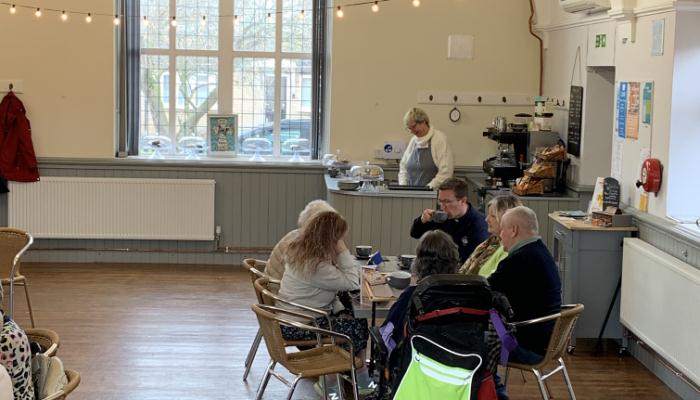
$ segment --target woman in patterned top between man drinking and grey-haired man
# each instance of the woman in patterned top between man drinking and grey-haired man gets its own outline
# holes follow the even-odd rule
[[[481,275],[488,278],[496,270],[498,263],[508,256],[501,244],[501,238],[498,237],[501,232],[501,218],[509,209],[522,205],[520,199],[510,194],[496,196],[489,201],[486,206],[486,224],[491,236],[474,249],[472,255],[459,269],[460,274]]]

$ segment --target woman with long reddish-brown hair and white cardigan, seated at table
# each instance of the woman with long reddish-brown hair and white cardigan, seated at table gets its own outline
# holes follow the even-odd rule
[[[310,219],[289,244],[278,294],[291,302],[331,313],[332,330],[348,335],[355,355],[364,360],[369,338],[367,320],[355,318],[337,296],[339,291],[360,289],[360,268],[355,266],[355,258],[343,241],[347,230],[345,219],[333,211]],[[317,318],[316,322],[321,328],[329,328],[325,318]],[[282,335],[287,340],[316,339],[316,334],[290,326],[282,326]],[[360,392],[372,391],[366,367],[357,371],[357,380]],[[316,389],[322,393],[320,387]],[[337,394],[337,390],[329,387],[329,394]]]

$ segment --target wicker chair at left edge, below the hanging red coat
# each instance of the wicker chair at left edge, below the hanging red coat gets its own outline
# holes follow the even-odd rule
[[[0,228],[0,283],[3,286],[10,286],[8,316],[14,319],[15,285],[21,285],[24,287],[29,318],[32,322],[32,328],[34,328],[34,312],[32,311],[32,301],[29,298],[27,278],[19,271],[19,259],[32,243],[34,243],[34,238],[27,232],[14,228]]]

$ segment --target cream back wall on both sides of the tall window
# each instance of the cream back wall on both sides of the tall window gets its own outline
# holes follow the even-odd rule
[[[38,4],[38,3],[37,3]],[[42,5],[42,4],[38,4]],[[112,13],[110,0],[61,0],[51,7]],[[528,34],[526,1],[409,1],[345,10],[332,21],[330,149],[371,159],[385,140],[409,139],[401,119],[420,90],[536,94],[537,42]],[[115,153],[114,27],[108,17],[87,25],[32,10],[0,12],[0,79],[22,79],[40,157],[112,158]],[[449,34],[475,36],[473,60],[447,60]],[[457,165],[480,165],[495,144],[481,135],[495,115],[531,107],[427,106],[448,135]]]

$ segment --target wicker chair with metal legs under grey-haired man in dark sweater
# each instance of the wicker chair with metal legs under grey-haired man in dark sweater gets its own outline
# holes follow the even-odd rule
[[[518,363],[508,363],[508,369],[506,369],[505,382],[508,382],[508,372],[510,368],[516,368],[522,371],[532,371],[537,378],[537,384],[540,387],[540,393],[544,400],[550,398],[549,390],[546,387],[545,380],[555,373],[561,371],[564,374],[564,381],[566,383],[566,388],[569,391],[569,397],[572,400],[576,400],[576,395],[574,394],[574,388],[571,386],[571,379],[569,378],[569,373],[566,370],[566,365],[564,365],[564,359],[562,358],[564,352],[567,349],[569,339],[571,337],[571,332],[574,329],[574,325],[578,320],[579,315],[583,312],[583,304],[570,304],[563,305],[561,312],[556,314],[547,315],[541,318],[535,318],[528,321],[515,322],[516,328],[520,326],[540,324],[547,321],[556,321],[554,323],[554,329],[552,330],[552,336],[549,339],[549,345],[547,346],[547,352],[544,355],[542,361],[534,365],[518,364]],[[556,360],[559,365],[555,367],[548,373],[544,373],[544,367],[549,364],[550,361]]]

